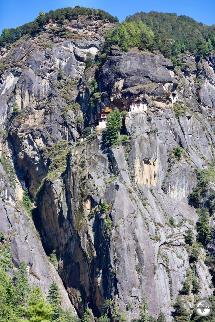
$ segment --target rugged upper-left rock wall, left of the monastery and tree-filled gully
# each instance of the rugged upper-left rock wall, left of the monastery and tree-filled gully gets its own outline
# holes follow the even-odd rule
[[[109,27],[109,23],[101,25],[98,20],[83,18],[68,26],[71,39],[62,42],[60,37],[43,33],[36,39],[20,40],[10,55],[2,55],[5,69],[0,81],[1,127],[7,115],[11,116],[16,101],[20,113],[12,124],[11,118],[6,121],[8,145],[18,179],[28,181],[33,198],[48,170],[45,147],[61,139],[75,141],[81,134],[77,119],[83,117],[82,112],[76,106],[63,114],[64,107],[77,100],[86,54],[95,56],[104,41],[99,32]],[[57,27],[51,24],[47,28],[56,31]]]

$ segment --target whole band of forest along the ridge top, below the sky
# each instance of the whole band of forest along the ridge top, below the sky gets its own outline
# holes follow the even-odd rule
[[[98,19],[113,24],[112,32],[107,32],[107,40],[101,47],[101,53],[105,53],[101,59],[109,54],[110,45],[118,45],[124,52],[132,47],[159,51],[167,58],[177,58],[180,53],[189,51],[196,55],[197,60],[215,50],[215,25],[207,26],[185,15],[141,11],[126,17],[120,24],[117,17],[103,10],[80,6],[57,9],[46,14],[41,11],[33,22],[15,29],[4,29],[0,46],[15,43],[23,36],[35,37],[44,32],[45,25],[50,22],[59,26],[59,35],[62,35],[67,31],[65,24],[79,16],[86,20]],[[176,64],[174,58],[173,64]]]

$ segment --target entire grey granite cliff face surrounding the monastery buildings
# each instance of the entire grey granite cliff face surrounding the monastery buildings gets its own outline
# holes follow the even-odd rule
[[[120,311],[131,303],[130,320],[138,317],[146,293],[149,314],[157,317],[161,309],[171,321],[172,304],[191,270],[201,287],[199,297],[213,293],[205,251],[191,265],[184,234],[188,228],[196,233],[198,215],[188,204],[196,168],[214,158],[214,57],[197,66],[195,57],[184,54],[181,67],[174,68],[159,53],[112,47],[100,67],[84,72],[86,53],[95,56],[111,24],[82,18],[67,28],[75,33],[71,39],[43,33],[1,52],[1,150],[13,161],[16,194],[25,178],[32,200],[37,199],[43,247],[47,254],[56,250],[58,272],[80,316],[87,307],[98,315],[105,298],[111,298]],[[100,95],[92,105],[94,78]],[[96,131],[75,143],[101,108],[121,108],[132,99],[146,99],[148,111],[124,119],[122,134],[129,143],[106,149]],[[20,112],[12,119],[15,101]],[[181,147],[179,159],[171,154],[175,147]],[[66,163],[58,160],[53,166],[59,150]],[[47,175],[49,168],[54,175]],[[33,237],[32,221],[29,226],[15,208],[10,188],[6,196],[0,231],[15,231],[10,237],[14,264],[29,262],[36,275],[44,276],[44,292],[50,279],[57,280],[67,302],[57,272]],[[193,301],[191,295],[190,309]]]

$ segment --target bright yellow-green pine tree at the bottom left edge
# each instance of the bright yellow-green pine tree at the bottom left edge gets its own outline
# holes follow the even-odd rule
[[[54,315],[54,306],[44,298],[41,289],[34,287],[30,293],[27,307],[21,307],[24,319],[19,322],[50,322]]]

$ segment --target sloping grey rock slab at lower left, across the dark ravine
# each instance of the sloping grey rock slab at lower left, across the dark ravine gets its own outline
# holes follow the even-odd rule
[[[63,282],[44,252],[32,218],[18,204],[1,163],[0,231],[11,243],[14,269],[24,260],[29,283],[38,285],[48,295],[48,287],[54,281],[59,287],[63,308],[70,308],[71,302]]]

